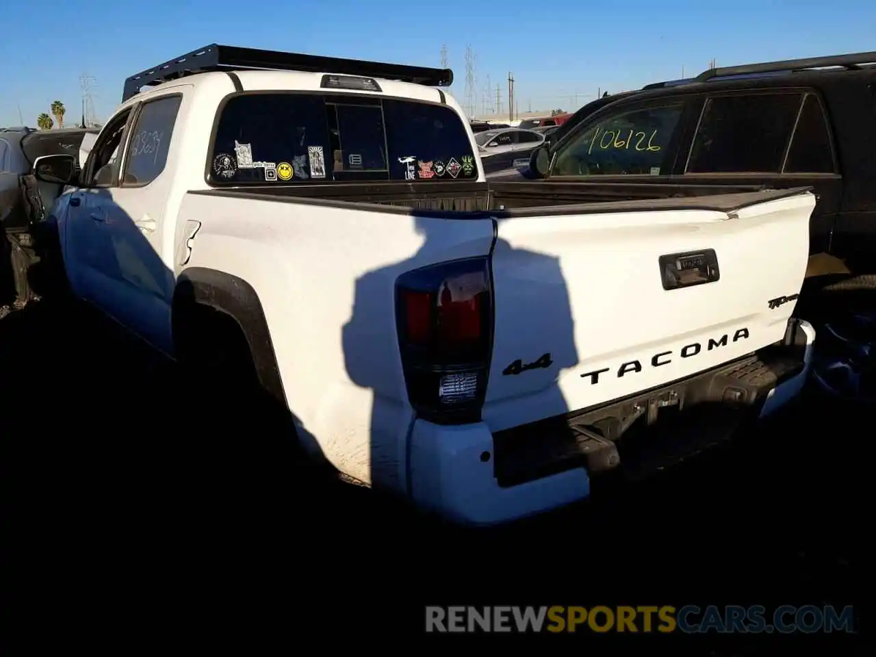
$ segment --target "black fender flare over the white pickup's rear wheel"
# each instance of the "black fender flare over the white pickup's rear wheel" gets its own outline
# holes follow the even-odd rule
[[[187,267],[173,290],[171,320],[178,336],[180,322],[198,306],[214,308],[237,322],[250,347],[258,381],[273,399],[286,406],[286,393],[279,375],[265,311],[255,289],[234,274],[208,267]],[[189,315],[190,316],[190,315]]]

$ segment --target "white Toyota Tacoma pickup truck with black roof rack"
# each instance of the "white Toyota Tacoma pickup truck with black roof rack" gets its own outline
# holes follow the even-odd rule
[[[70,288],[172,357],[246,364],[290,441],[473,524],[587,497],[636,432],[677,451],[697,408],[799,391],[808,190],[488,184],[451,80],[215,45],[133,76],[79,180],[35,166],[76,186],[49,224]]]

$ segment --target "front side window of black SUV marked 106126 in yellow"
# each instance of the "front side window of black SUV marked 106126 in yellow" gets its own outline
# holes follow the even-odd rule
[[[628,109],[599,119],[557,150],[551,175],[668,174],[682,107]]]

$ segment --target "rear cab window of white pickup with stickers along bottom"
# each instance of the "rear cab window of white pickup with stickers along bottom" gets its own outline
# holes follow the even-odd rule
[[[208,162],[210,182],[235,185],[477,175],[469,133],[453,109],[357,95],[233,96]]]

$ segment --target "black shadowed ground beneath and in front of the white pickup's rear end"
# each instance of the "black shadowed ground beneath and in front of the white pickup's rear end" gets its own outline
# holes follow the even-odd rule
[[[351,641],[337,630],[357,622],[419,632],[427,603],[858,602],[862,408],[807,397],[622,494],[474,532],[290,469],[246,409],[78,310],[0,319],[0,392],[27,572],[59,591],[39,604],[100,618],[72,624],[89,641],[234,634],[251,651],[311,617]],[[763,635],[719,639],[695,652],[774,651]]]

